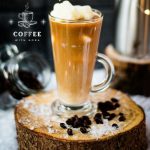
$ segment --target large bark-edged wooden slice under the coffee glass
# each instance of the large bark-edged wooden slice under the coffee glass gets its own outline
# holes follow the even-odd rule
[[[91,116],[92,125],[88,133],[83,134],[80,129],[72,128],[72,136],[67,134],[67,129],[60,127],[60,122],[65,122],[66,118],[51,113],[51,103],[56,99],[55,92],[39,93],[23,99],[15,108],[19,149],[146,150],[143,110],[127,95],[112,89],[95,94],[92,101],[97,106],[99,101],[104,103],[111,98],[119,100],[119,106],[115,110],[108,111],[116,114],[112,120],[105,118],[103,124],[96,124]],[[124,121],[119,121],[120,113],[124,114]],[[117,124],[118,128],[112,124]]]

